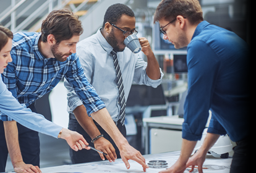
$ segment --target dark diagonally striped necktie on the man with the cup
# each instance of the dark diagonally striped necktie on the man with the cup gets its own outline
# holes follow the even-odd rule
[[[122,74],[117,60],[116,52],[113,50],[111,51],[111,54],[114,61],[114,69],[116,69],[117,87],[119,90],[119,103],[121,104],[120,120],[121,124],[124,125],[124,117],[126,116],[126,99],[124,98],[124,85],[122,83]]]

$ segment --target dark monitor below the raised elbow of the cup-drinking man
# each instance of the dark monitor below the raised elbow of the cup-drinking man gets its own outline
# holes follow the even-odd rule
[[[127,98],[127,107],[166,104],[162,85],[157,88],[133,84]]]

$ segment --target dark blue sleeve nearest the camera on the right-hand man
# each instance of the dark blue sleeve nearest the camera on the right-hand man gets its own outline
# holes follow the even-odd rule
[[[207,43],[193,40],[187,47],[188,93],[184,103],[182,138],[197,141],[207,124],[220,60]]]

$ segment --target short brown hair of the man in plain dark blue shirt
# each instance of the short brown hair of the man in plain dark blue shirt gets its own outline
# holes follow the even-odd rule
[[[198,0],[163,0],[156,8],[154,23],[161,19],[173,20],[177,15],[186,17],[192,25],[203,20]]]

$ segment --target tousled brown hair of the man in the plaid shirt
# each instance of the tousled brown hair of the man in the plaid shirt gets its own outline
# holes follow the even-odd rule
[[[49,34],[54,35],[57,43],[62,40],[69,40],[73,35],[83,33],[82,23],[79,16],[69,9],[52,11],[41,25],[41,39],[47,42]]]

